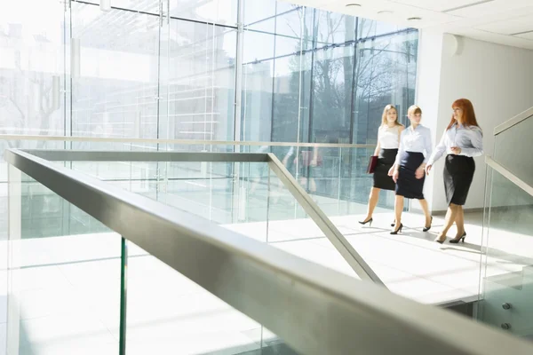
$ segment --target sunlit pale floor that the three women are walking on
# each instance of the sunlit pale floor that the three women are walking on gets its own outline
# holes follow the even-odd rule
[[[339,231],[352,243],[355,250],[377,272],[387,288],[426,304],[442,304],[462,298],[477,296],[480,288],[481,220],[482,214],[467,216],[465,243],[438,244],[434,242],[443,217],[434,217],[432,229],[422,232],[423,217],[405,213],[403,231],[391,235],[390,212],[374,215],[371,226],[360,225],[364,215],[331,217]],[[239,233],[252,236],[259,224],[228,225]],[[450,230],[449,236],[455,234]],[[268,224],[268,241],[277,248],[323,264],[339,272],[354,272],[340,256],[330,241],[310,219],[271,222]],[[533,260],[526,257],[533,248],[527,236],[505,233],[506,250],[494,250],[489,257],[488,275],[520,271]],[[510,245],[514,246],[510,247]],[[531,249],[529,249],[531,250]],[[521,256],[522,254],[522,256]]]

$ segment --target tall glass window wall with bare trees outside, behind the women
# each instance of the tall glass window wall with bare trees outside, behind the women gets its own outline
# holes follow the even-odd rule
[[[403,117],[414,100],[412,28],[275,0],[108,3],[109,9],[98,0],[3,6],[0,134],[374,145],[382,107],[393,103]],[[0,154],[51,147],[44,140],[0,144]],[[55,147],[96,146],[107,149],[81,142]],[[272,152],[308,192],[362,202],[372,150]],[[317,166],[298,164],[310,157]],[[2,182],[5,171],[0,164]],[[388,200],[381,205],[391,206]]]

